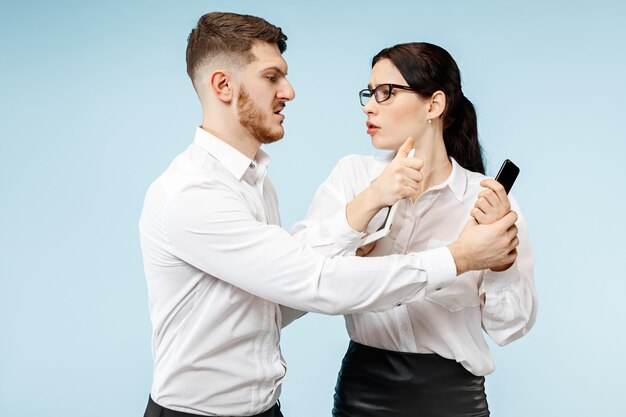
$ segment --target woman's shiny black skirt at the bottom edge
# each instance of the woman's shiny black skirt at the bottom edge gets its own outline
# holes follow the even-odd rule
[[[337,378],[333,416],[489,416],[485,378],[436,354],[350,341]]]

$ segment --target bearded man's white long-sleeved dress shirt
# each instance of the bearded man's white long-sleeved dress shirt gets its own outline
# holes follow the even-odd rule
[[[279,226],[268,164],[263,151],[250,160],[198,129],[148,189],[139,229],[153,325],[151,395],[161,406],[261,413],[285,376],[279,341],[281,326],[298,315],[290,308],[382,311],[421,300],[426,284],[456,282],[445,247],[326,259],[298,242]],[[325,224],[347,228],[345,214]],[[290,308],[281,313],[279,305]]]

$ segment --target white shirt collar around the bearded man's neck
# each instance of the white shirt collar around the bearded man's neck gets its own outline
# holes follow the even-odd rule
[[[271,161],[270,156],[262,149],[257,151],[254,160],[252,160],[201,127],[196,129],[194,143],[224,165],[237,180],[241,180],[247,170],[256,168],[258,164],[267,167]]]

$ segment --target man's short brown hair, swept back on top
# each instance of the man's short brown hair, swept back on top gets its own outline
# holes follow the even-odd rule
[[[281,54],[287,49],[283,31],[260,17],[207,13],[187,38],[187,74],[193,82],[199,66],[221,57],[245,65],[254,59],[255,42],[276,44]]]

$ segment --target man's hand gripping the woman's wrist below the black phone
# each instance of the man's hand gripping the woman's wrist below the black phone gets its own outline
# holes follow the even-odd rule
[[[472,219],[456,242],[448,245],[457,275],[467,271],[510,265],[517,258],[517,213],[510,211],[500,220],[483,225]]]

